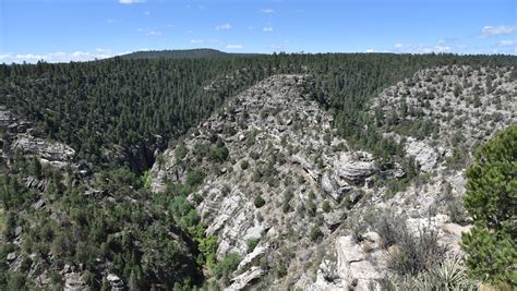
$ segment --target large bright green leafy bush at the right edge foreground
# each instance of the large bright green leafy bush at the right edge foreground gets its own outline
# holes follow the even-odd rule
[[[478,148],[467,169],[465,208],[474,220],[462,237],[473,278],[517,286],[517,124]],[[514,266],[514,267],[509,267]]]

